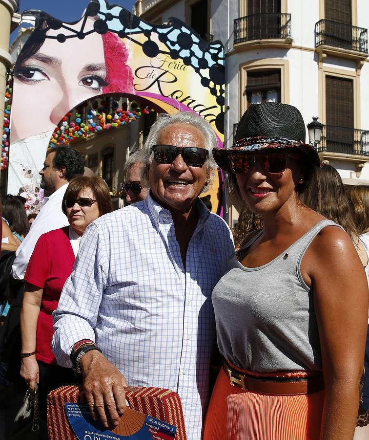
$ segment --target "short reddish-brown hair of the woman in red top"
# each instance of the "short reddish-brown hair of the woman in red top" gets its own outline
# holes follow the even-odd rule
[[[104,179],[100,176],[77,176],[69,182],[68,188],[64,194],[62,211],[65,215],[66,201],[75,200],[86,188],[89,188],[94,193],[95,200],[97,200],[99,206],[100,216],[113,210],[109,188]]]

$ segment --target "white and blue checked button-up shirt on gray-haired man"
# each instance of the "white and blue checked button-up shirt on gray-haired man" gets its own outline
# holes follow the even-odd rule
[[[201,438],[215,337],[211,292],[234,252],[222,220],[197,202],[184,268],[168,210],[149,195],[95,220],[54,312],[53,351],[96,341],[128,385],[160,386],[182,399],[188,440]]]

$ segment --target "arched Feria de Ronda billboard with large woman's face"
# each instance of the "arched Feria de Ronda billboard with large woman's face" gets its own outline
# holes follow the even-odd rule
[[[224,49],[183,22],[156,25],[105,0],[79,22],[41,13],[14,68],[8,192],[39,197],[39,170],[62,117],[103,93],[144,98],[168,113],[192,111],[223,143]]]

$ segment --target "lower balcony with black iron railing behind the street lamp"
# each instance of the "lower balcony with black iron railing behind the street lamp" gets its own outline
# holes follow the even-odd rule
[[[338,153],[350,156],[368,156],[369,130],[324,125],[318,153]]]

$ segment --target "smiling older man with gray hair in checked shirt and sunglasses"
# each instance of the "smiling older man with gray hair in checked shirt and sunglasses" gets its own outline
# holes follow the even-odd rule
[[[188,439],[201,437],[211,292],[234,251],[224,220],[198,198],[215,142],[199,116],[159,118],[141,156],[149,195],[96,220],[82,238],[52,345],[61,365],[81,370],[105,426],[124,412],[124,386],[161,386],[181,396]]]

